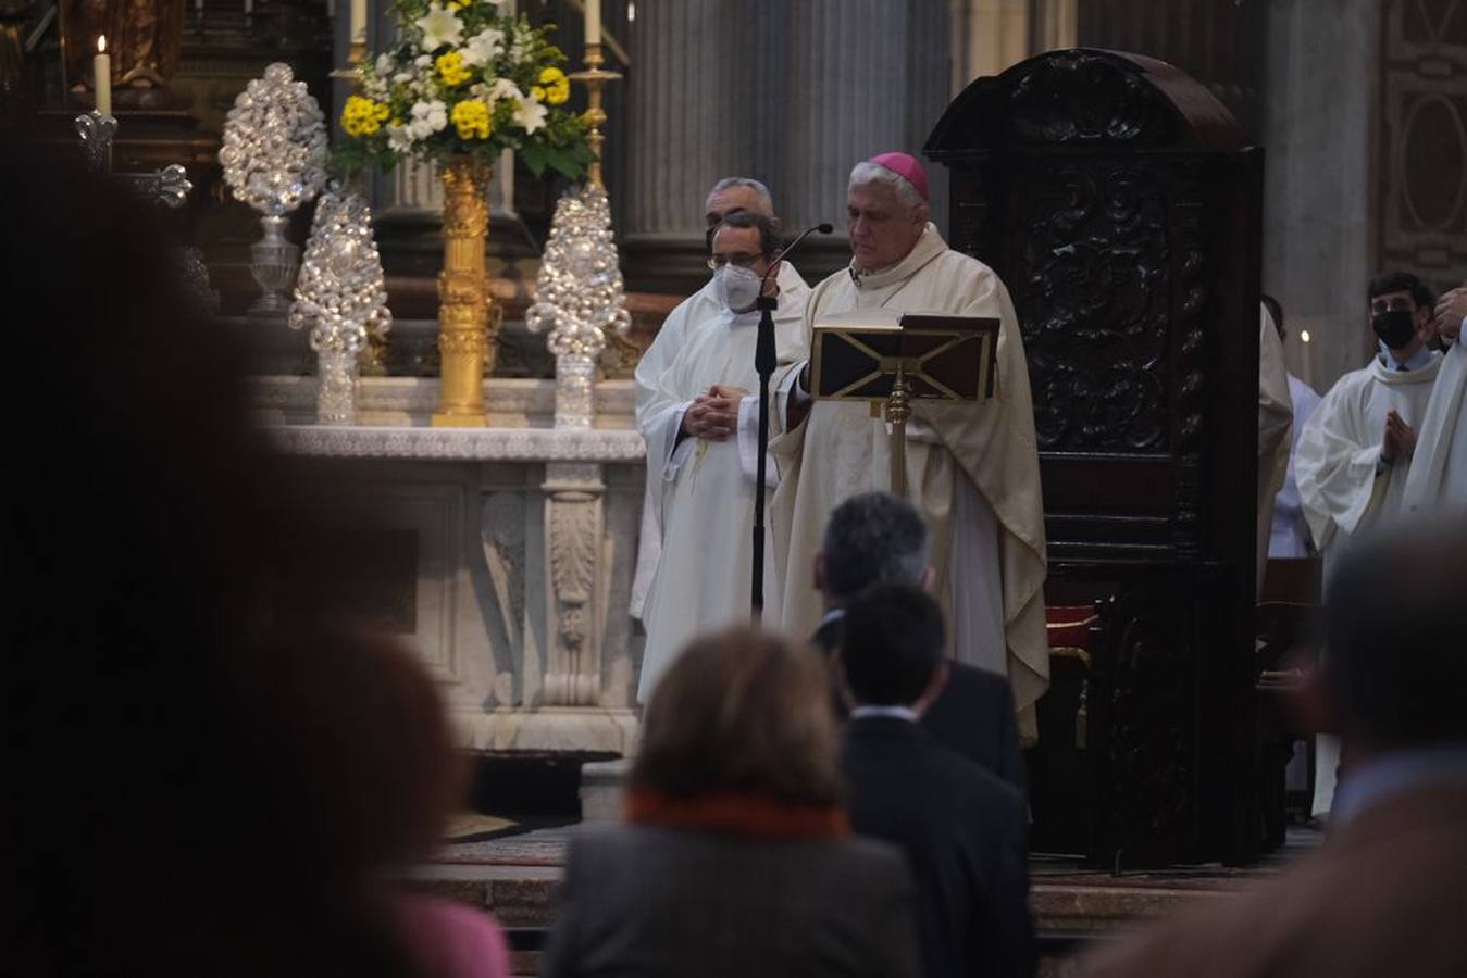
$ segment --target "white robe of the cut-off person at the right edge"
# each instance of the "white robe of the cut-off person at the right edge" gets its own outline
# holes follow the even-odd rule
[[[1416,424],[1416,456],[1401,491],[1407,515],[1441,513],[1467,506],[1467,424],[1463,391],[1467,390],[1467,331],[1442,358],[1432,397]]]

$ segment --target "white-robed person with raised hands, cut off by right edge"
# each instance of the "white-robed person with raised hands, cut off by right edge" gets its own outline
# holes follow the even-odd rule
[[[1423,515],[1467,506],[1467,421],[1463,393],[1467,391],[1467,286],[1452,289],[1436,302],[1433,330],[1442,337],[1446,356],[1422,419],[1416,459],[1405,479],[1401,507]]]

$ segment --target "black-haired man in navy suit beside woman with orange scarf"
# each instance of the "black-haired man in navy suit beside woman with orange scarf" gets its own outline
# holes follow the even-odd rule
[[[1024,801],[918,724],[951,669],[937,603],[879,585],[846,607],[845,625],[836,672],[851,705],[846,814],[857,833],[907,853],[923,974],[1031,975]]]

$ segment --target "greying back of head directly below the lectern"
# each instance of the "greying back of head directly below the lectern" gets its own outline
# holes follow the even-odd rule
[[[877,584],[927,588],[930,553],[927,523],[915,506],[889,493],[863,493],[830,513],[816,553],[814,585],[827,610]]]

